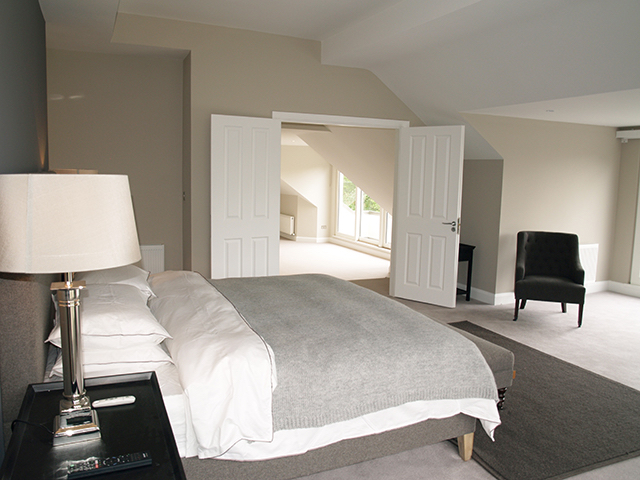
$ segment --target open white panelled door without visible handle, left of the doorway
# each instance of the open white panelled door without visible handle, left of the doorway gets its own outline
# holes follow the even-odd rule
[[[279,272],[280,121],[211,116],[211,277]]]

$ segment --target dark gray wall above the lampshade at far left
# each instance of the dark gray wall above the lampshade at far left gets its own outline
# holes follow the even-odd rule
[[[47,163],[45,22],[37,0],[0,2],[0,173]]]

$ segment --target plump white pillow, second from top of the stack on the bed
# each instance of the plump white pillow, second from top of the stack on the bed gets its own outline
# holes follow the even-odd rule
[[[83,348],[119,349],[171,338],[147,307],[146,294],[136,287],[89,285],[80,298]],[[62,346],[59,325],[47,341]]]

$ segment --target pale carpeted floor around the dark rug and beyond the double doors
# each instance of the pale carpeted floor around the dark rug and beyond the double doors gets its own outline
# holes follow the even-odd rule
[[[281,273],[327,273],[388,293],[389,262],[332,244],[281,244]],[[293,244],[293,245],[290,245]],[[292,248],[289,248],[292,247]],[[368,263],[371,261],[371,264]],[[309,261],[309,262],[308,262]],[[382,275],[381,275],[382,273]],[[455,309],[400,300],[445,323],[467,320],[520,343],[640,390],[640,298],[611,292],[587,295],[584,322],[577,327],[577,307],[529,302],[513,322],[513,305],[486,305],[458,297]],[[517,359],[516,359],[517,370]],[[517,378],[516,378],[517,381]],[[508,401],[508,396],[507,396]],[[578,408],[578,407],[577,407]],[[499,435],[499,429],[496,432]],[[526,434],[526,433],[523,433]],[[570,449],[571,446],[567,445]],[[541,461],[543,461],[541,459]],[[462,462],[449,442],[323,472],[304,480],[490,480],[473,460]],[[640,458],[572,477],[575,480],[640,478]],[[302,480],[302,479],[301,479]]]

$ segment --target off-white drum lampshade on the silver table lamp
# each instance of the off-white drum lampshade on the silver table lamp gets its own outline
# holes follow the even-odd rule
[[[138,260],[126,175],[0,175],[0,271],[82,272]]]

